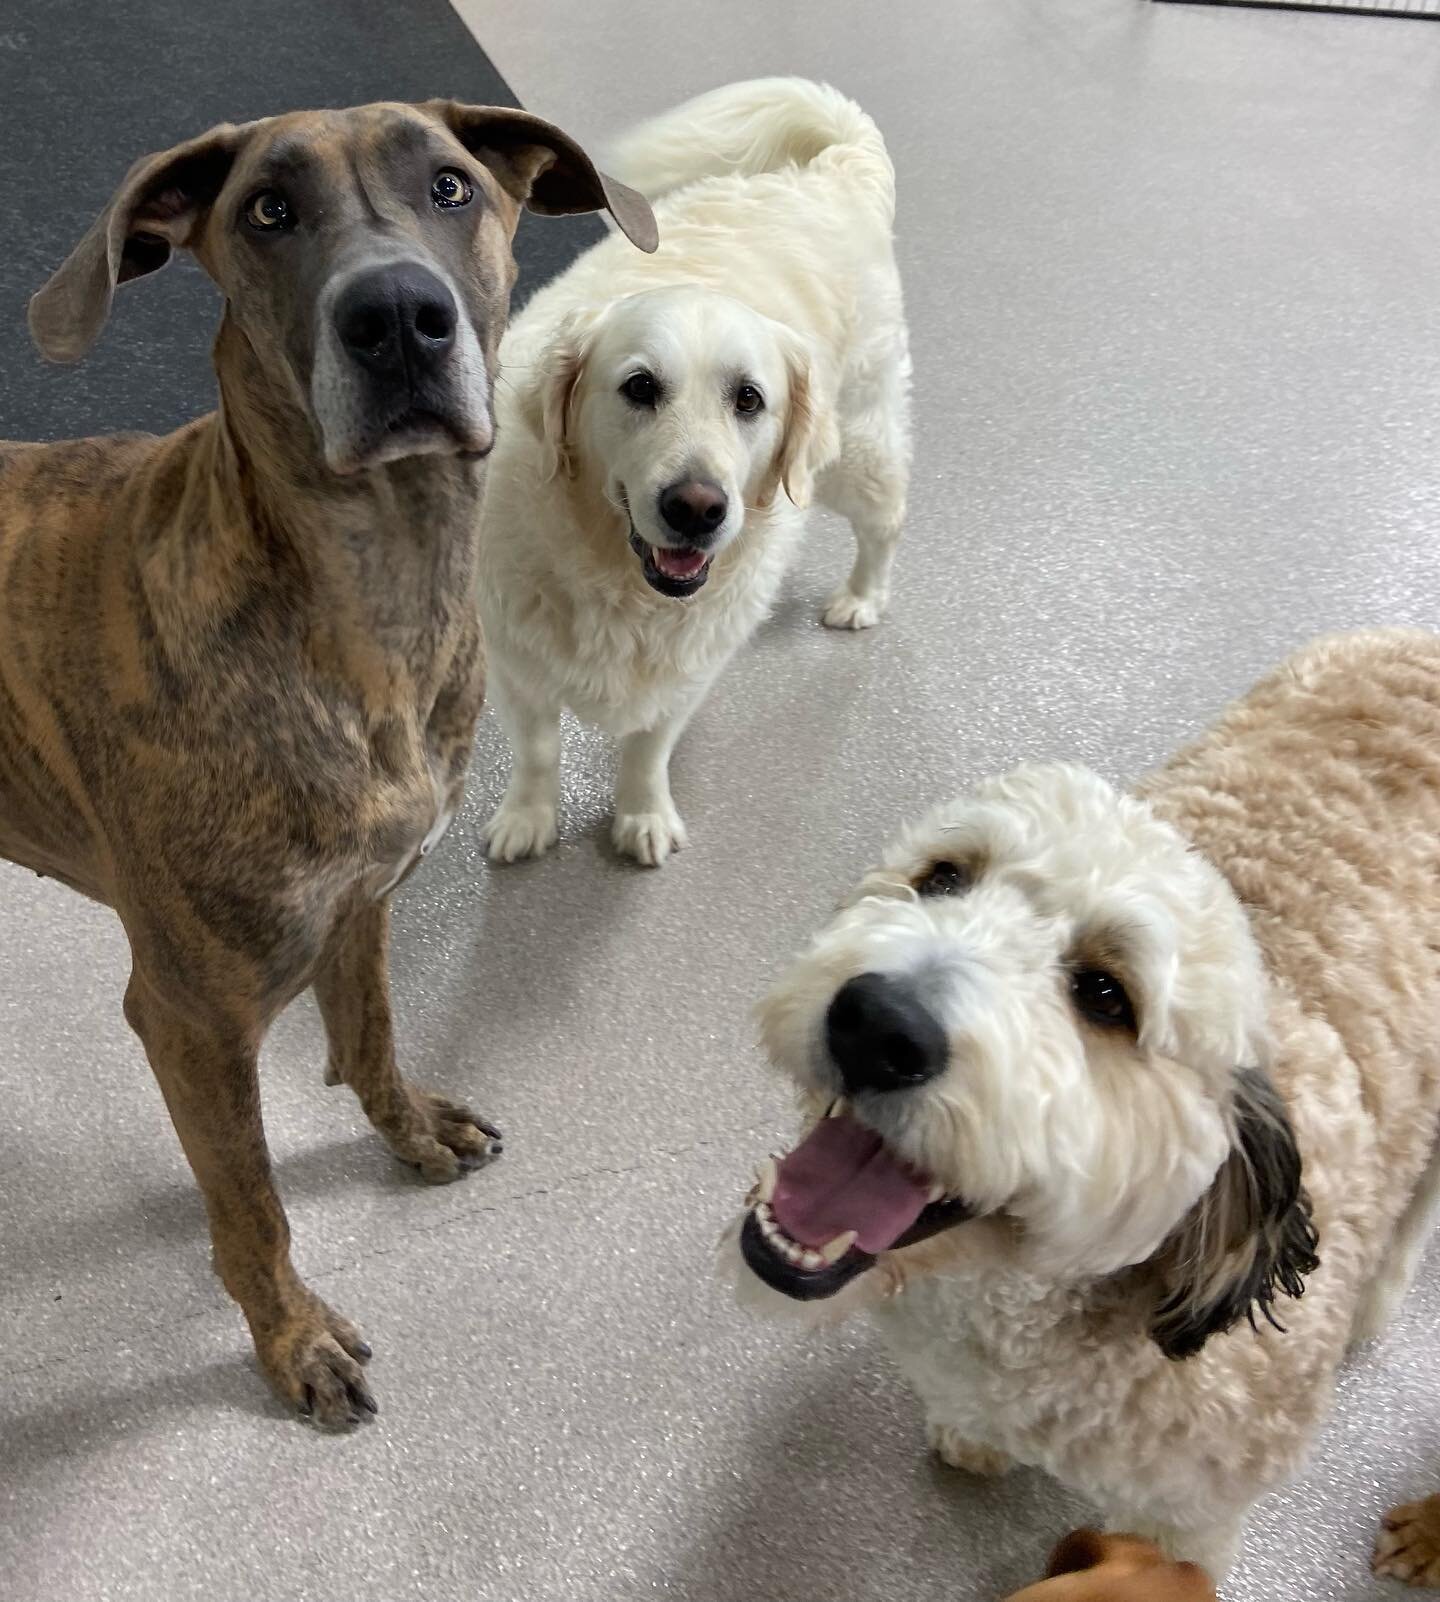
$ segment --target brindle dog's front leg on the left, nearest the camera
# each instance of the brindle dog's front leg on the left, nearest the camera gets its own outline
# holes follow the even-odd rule
[[[375,1400],[360,1368],[370,1347],[306,1290],[290,1261],[259,1117],[259,1027],[202,1020],[136,971],[125,1017],[146,1054],[205,1197],[215,1266],[240,1304],[276,1389],[322,1424],[354,1424]]]

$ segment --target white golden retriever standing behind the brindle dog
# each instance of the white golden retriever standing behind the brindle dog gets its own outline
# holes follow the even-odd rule
[[[646,123],[610,170],[660,250],[604,240],[511,324],[479,594],[511,775],[490,855],[556,839],[559,719],[617,735],[613,839],[657,865],[686,830],[670,755],[775,598],[812,492],[857,557],[825,607],[870,628],[910,461],[894,171],[875,123],[799,78]]]

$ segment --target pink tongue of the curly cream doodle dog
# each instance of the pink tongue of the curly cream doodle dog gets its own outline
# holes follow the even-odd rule
[[[822,1118],[780,1163],[770,1208],[802,1246],[855,1230],[862,1251],[884,1251],[919,1218],[929,1185],[849,1115]]]

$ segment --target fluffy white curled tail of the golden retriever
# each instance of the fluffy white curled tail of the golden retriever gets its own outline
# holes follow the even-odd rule
[[[702,178],[844,167],[887,216],[895,171],[879,128],[828,83],[751,78],[711,90],[623,135],[605,170],[650,200]]]

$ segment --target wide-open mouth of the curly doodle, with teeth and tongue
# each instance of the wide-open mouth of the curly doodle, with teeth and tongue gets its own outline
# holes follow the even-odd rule
[[[746,1206],[745,1262],[796,1301],[833,1296],[881,1251],[974,1216],[964,1198],[895,1157],[841,1102],[793,1152],[766,1161]]]

